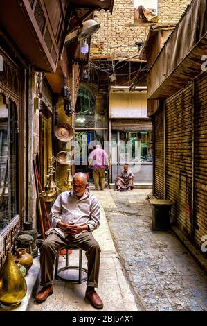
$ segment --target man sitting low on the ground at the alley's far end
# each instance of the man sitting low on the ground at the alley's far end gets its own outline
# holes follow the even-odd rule
[[[116,190],[128,190],[131,191],[134,188],[133,185],[134,174],[129,170],[128,164],[125,164],[123,171],[116,178]]]

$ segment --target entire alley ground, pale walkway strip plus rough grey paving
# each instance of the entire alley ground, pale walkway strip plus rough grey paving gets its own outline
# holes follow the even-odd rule
[[[91,189],[102,207],[94,232],[102,250],[102,311],[207,311],[207,277],[172,231],[152,230],[149,193]],[[54,294],[43,304],[32,298],[28,311],[95,311],[83,300],[84,290],[84,283],[55,280]]]

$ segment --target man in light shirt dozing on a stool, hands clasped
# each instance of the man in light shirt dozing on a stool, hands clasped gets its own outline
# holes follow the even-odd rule
[[[98,287],[100,247],[94,239],[93,230],[100,225],[100,205],[95,196],[87,191],[87,176],[78,172],[73,176],[73,189],[60,194],[51,208],[53,230],[40,251],[42,289],[36,294],[38,303],[53,294],[53,270],[57,252],[67,245],[75,245],[86,252],[88,261],[87,290],[85,298],[96,309],[103,303],[95,289]]]

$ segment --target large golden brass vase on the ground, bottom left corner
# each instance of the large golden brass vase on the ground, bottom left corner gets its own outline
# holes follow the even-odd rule
[[[0,302],[5,306],[16,306],[25,297],[26,281],[19,267],[7,252],[6,261],[0,271]]]

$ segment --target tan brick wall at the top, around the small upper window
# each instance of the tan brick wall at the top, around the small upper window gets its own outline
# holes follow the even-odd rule
[[[190,2],[191,0],[159,0],[159,23],[178,22]],[[126,58],[138,54],[137,46],[132,44],[145,40],[149,26],[125,26],[134,23],[133,3],[133,0],[114,0],[112,15],[104,10],[96,12],[94,19],[100,24],[100,29],[92,37],[91,55],[111,56],[112,53],[114,58]]]

